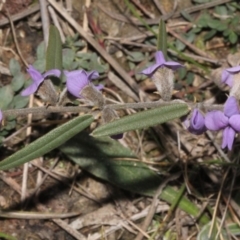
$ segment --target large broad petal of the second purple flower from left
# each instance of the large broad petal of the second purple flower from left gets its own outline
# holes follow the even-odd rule
[[[84,70],[64,71],[67,78],[67,89],[75,97],[81,98],[80,92],[89,84],[87,73]]]

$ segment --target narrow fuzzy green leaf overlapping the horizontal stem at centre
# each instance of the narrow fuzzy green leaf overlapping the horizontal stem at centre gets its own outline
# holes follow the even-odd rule
[[[102,125],[93,131],[92,134],[95,137],[101,137],[124,133],[130,130],[147,128],[182,117],[188,112],[188,106],[182,103],[157,107]]]

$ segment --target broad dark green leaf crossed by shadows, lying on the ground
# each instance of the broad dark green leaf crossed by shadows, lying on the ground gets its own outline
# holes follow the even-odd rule
[[[136,156],[119,142],[109,137],[93,138],[84,132],[64,143],[60,150],[82,169],[120,188],[145,196],[154,196],[156,189],[165,179],[146,164],[137,161]],[[173,204],[178,191],[165,187],[160,198]],[[185,197],[178,207],[192,216],[198,216],[199,209]],[[203,215],[202,224],[209,221]]]

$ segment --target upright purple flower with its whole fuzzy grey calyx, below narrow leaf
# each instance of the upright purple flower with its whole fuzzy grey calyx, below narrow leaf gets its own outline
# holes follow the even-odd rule
[[[162,99],[169,101],[173,94],[173,70],[182,67],[182,65],[178,62],[166,61],[162,51],[155,53],[155,61],[155,64],[141,73],[151,77]]]

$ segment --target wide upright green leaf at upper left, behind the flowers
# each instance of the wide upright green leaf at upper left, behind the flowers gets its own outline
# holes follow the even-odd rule
[[[62,70],[62,42],[55,26],[50,26],[46,53],[46,71],[51,69]]]

